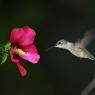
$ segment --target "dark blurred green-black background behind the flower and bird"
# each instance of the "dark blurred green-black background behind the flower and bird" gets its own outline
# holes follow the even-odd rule
[[[35,44],[41,59],[27,61],[22,78],[10,58],[0,65],[1,95],[80,95],[92,80],[95,62],[66,50],[45,50],[60,39],[75,42],[95,25],[94,0],[0,0],[0,43],[9,41],[11,29],[29,25],[37,31]],[[95,40],[87,49],[95,55]],[[89,93],[95,95],[95,92]]]

